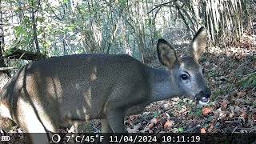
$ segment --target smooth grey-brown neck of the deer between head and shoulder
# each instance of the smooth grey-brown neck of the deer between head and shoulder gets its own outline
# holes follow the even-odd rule
[[[174,74],[170,70],[150,68],[150,102],[161,101],[182,95],[178,90]]]

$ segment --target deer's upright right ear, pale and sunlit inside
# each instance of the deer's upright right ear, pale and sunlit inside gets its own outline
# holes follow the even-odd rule
[[[202,53],[206,50],[206,29],[201,27],[192,40],[191,54],[198,61]]]

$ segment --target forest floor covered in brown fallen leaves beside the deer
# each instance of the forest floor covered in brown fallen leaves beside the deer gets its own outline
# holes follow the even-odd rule
[[[224,46],[223,46],[224,47]],[[211,47],[202,56],[202,66],[212,96],[207,106],[190,98],[154,102],[142,114],[126,117],[130,133],[255,133],[256,46]],[[159,65],[159,62],[152,65]],[[100,132],[94,120],[78,126],[80,132]],[[20,131],[14,127],[10,132]],[[70,130],[72,132],[72,130]]]

